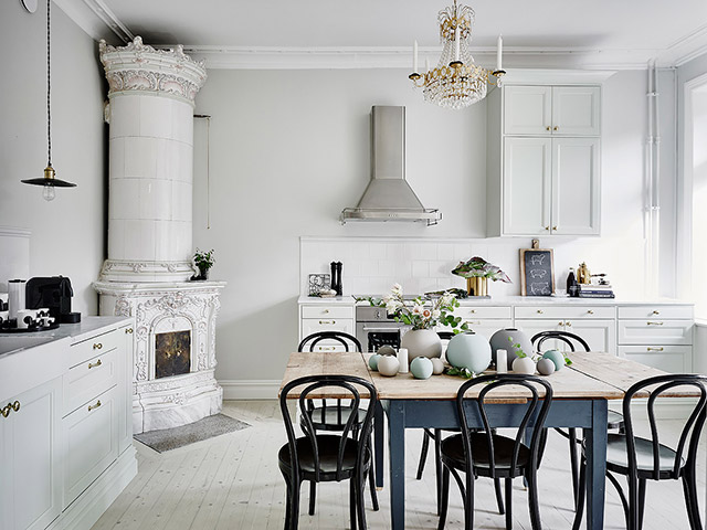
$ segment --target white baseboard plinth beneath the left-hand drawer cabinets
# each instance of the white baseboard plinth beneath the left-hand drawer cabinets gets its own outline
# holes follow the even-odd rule
[[[48,530],[89,530],[137,475],[133,444],[54,519]]]

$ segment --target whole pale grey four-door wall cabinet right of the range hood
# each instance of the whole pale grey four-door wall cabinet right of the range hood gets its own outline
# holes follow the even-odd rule
[[[601,85],[508,83],[487,99],[487,235],[599,235]]]

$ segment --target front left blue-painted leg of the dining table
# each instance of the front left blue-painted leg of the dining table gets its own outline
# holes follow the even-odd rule
[[[390,459],[390,524],[392,530],[405,528],[405,407],[391,401],[388,410]]]

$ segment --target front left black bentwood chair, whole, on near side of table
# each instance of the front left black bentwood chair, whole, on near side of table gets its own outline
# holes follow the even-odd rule
[[[299,394],[302,430],[304,436],[297,437],[287,406],[287,395],[296,386],[307,385]],[[350,399],[354,406],[360,404],[357,388],[368,393],[369,407],[363,422],[357,425],[357,416],[349,415],[340,435],[317,434],[312,416],[307,411],[308,395],[320,389],[336,389],[337,393]],[[363,506],[365,477],[371,468],[370,449],[373,409],[378,395],[376,388],[368,381],[350,375],[310,375],[287,383],[279,394],[279,407],[287,432],[287,444],[277,454],[279,470],[287,484],[287,507],[285,510],[285,530],[296,530],[299,522],[299,490],[303,480],[312,484],[350,480],[351,530],[366,530],[366,508]]]

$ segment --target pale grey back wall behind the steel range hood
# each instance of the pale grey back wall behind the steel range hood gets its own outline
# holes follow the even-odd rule
[[[644,289],[645,92],[645,72],[619,73],[604,86],[602,237],[541,241],[556,250],[559,278],[587,261],[611,274],[622,297]],[[369,180],[372,105],[407,107],[408,180],[425,206],[443,212],[439,226],[338,223]],[[402,71],[211,70],[197,113],[212,120],[209,183],[205,123],[194,130],[194,245],[215,248],[213,277],[229,282],[217,332],[220,380],[282,377],[297,340],[302,235],[465,240],[507,256],[498,265],[511,275],[511,256],[530,245],[483,239],[485,103],[437,108]],[[318,271],[302,271],[310,272]]]

